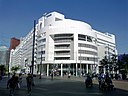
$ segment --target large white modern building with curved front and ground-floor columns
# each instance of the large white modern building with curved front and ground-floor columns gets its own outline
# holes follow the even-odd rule
[[[41,17],[35,33],[34,73],[47,76],[53,71],[60,76],[98,73],[99,60],[117,54],[113,34],[96,31],[85,22],[66,19],[57,12]],[[31,70],[32,41],[33,29],[11,54],[14,57],[11,63],[25,71]]]

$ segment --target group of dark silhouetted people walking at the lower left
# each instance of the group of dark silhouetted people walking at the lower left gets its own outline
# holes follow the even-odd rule
[[[28,74],[28,76],[26,77],[28,95],[31,92],[32,81],[33,81],[32,75]],[[22,84],[22,74],[19,74],[19,76],[16,76],[16,74],[14,73],[7,82],[7,88],[10,91],[9,96],[14,96],[15,89],[17,88],[19,89],[21,87],[21,84]]]

